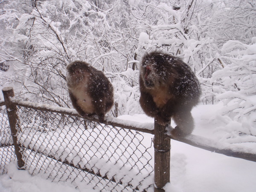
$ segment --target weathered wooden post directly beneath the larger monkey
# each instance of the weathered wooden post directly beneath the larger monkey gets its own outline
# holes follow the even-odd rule
[[[154,121],[154,192],[164,192],[170,182],[171,139],[166,136],[166,126]]]

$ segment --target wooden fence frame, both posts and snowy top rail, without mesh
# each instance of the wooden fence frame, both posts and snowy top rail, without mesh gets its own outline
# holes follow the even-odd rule
[[[14,97],[12,87],[6,87],[2,89],[4,95],[4,101],[0,104],[6,105],[9,123],[12,131],[12,137],[15,146],[15,153],[18,160],[18,166],[23,168],[24,162],[20,154],[20,146],[17,144],[17,130],[15,125],[19,126],[19,119],[16,113],[16,106],[23,106],[30,109],[36,109],[40,111],[55,112],[65,115],[71,115],[80,117],[76,110],[68,109],[64,107],[55,107],[47,104],[31,103],[27,101],[17,100]],[[86,120],[95,121],[99,123],[96,118],[83,117]],[[154,191],[164,192],[163,186],[170,182],[170,140],[173,139],[171,135],[166,132],[165,126],[160,126],[157,123],[135,123],[128,120],[120,120],[115,117],[107,116],[103,122],[106,125],[120,127],[123,129],[130,129],[139,132],[150,133],[154,135]],[[256,162],[256,152],[253,149],[245,147],[235,146],[227,143],[219,143],[218,141],[209,140],[208,138],[202,138],[196,135],[189,135],[185,138],[175,138],[183,143],[205,149],[211,152],[220,153],[223,155],[242,158]]]

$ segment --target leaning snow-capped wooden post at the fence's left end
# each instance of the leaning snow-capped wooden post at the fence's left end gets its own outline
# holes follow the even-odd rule
[[[19,169],[23,169],[23,166],[25,165],[22,155],[20,152],[20,146],[17,143],[17,128],[20,127],[19,119],[17,115],[17,107],[10,101],[10,97],[14,97],[14,91],[12,87],[5,87],[2,89],[4,101],[6,103],[6,111],[9,119],[9,124],[12,132],[12,140],[15,148],[15,154],[17,157],[17,163]]]

